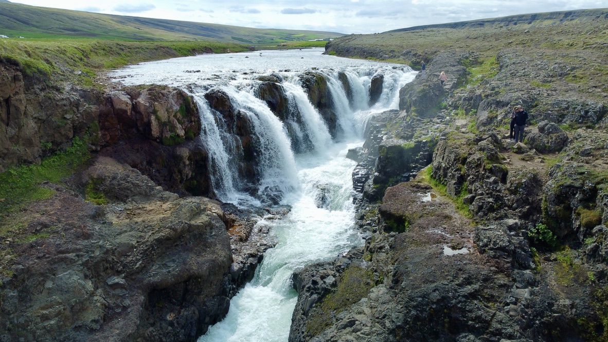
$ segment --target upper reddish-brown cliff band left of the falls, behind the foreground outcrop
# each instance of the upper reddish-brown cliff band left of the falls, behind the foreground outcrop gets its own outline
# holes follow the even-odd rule
[[[209,176],[195,172],[206,169],[207,152],[195,140],[201,130],[198,109],[182,91],[152,86],[108,94],[62,92],[2,64],[0,99],[0,131],[6,133],[0,134],[0,171],[40,163],[74,137],[89,135],[92,148],[113,147],[121,162],[167,190],[214,196]],[[192,146],[165,148],[184,142]]]

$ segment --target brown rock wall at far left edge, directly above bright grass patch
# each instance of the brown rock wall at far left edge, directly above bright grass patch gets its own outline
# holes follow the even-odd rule
[[[88,94],[95,98],[98,94]],[[21,163],[40,163],[97,120],[97,108],[71,92],[24,78],[18,67],[0,63],[0,172]]]

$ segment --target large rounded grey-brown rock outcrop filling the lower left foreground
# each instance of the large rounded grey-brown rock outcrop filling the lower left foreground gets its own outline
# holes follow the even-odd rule
[[[110,199],[129,203],[98,207],[57,187],[28,209],[39,218],[26,229],[49,237],[15,251],[3,338],[196,340],[229,306],[232,254],[219,203],[179,199],[107,158],[86,173]]]

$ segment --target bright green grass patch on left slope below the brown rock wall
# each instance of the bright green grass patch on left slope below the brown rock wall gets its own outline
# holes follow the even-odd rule
[[[74,138],[71,148],[44,159],[40,165],[16,166],[0,174],[0,221],[27,203],[49,199],[55,191],[42,183],[60,183],[89,157],[86,142]]]

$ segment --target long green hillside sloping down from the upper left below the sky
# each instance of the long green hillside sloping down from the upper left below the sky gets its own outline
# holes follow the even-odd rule
[[[0,35],[25,38],[212,40],[264,44],[344,36],[336,32],[252,29],[201,22],[105,15],[13,4],[0,0]]]

